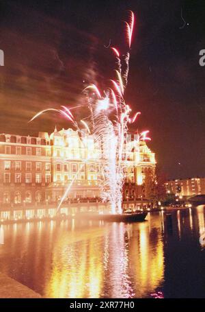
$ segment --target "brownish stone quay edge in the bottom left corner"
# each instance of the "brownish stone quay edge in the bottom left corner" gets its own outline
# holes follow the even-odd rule
[[[0,273],[0,298],[42,298],[39,293]]]

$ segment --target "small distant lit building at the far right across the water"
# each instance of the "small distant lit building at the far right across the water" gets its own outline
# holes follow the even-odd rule
[[[167,193],[179,196],[195,196],[205,194],[205,178],[188,178],[169,180],[165,183]]]

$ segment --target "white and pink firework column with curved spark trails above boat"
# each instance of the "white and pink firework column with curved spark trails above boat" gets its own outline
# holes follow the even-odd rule
[[[129,23],[126,22],[128,52],[126,53],[124,58],[126,66],[123,72],[120,62],[120,52],[114,47],[111,47],[118,60],[118,69],[115,70],[117,73],[118,82],[116,82],[115,80],[110,80],[114,86],[115,92],[112,88],[108,88],[107,91],[103,91],[103,93],[100,93],[98,87],[95,84],[90,84],[83,90],[83,92],[86,91],[88,99],[87,107],[90,110],[90,119],[93,128],[92,131],[90,131],[90,128],[88,127],[87,123],[83,121],[83,119],[81,119],[81,123],[85,125],[88,135],[92,135],[94,144],[98,144],[98,146],[100,146],[101,148],[102,159],[104,161],[102,165],[103,181],[101,181],[101,197],[104,202],[108,201],[110,203],[112,213],[122,213],[122,187],[124,183],[124,167],[126,164],[126,161],[124,161],[126,160],[125,142],[128,132],[128,122],[131,122],[131,119],[129,118],[131,108],[126,105],[126,102],[124,100],[124,91],[128,82],[129,58],[134,22],[135,17],[133,12],[131,12],[131,21]],[[89,92],[94,92],[96,94],[96,97],[92,97],[92,101],[90,101]],[[102,96],[102,94],[104,95]],[[115,116],[117,118],[113,119],[109,117],[109,113],[111,112],[111,106],[115,107]],[[38,114],[36,114],[31,119],[31,121],[36,117],[40,116],[43,112],[46,112],[48,110],[54,110],[55,112],[60,112],[61,115],[64,115],[64,117],[71,121],[74,127],[77,128],[77,131],[81,132],[78,127],[77,121],[75,121],[72,113],[70,112],[72,108],[66,108],[66,106],[61,107],[64,108],[64,110],[57,110],[54,108],[42,110],[41,112],[38,112]],[[139,112],[135,114],[132,119],[133,122],[139,114]],[[148,131],[141,133],[140,137],[142,141],[150,139],[146,136],[147,133]],[[87,163],[87,160],[84,161],[83,165]],[[79,170],[68,185],[66,192],[61,197],[61,201],[57,206],[57,211],[59,210],[62,202],[64,202],[64,200],[68,196],[72,184],[74,183],[74,180],[76,180],[80,170],[81,166],[79,166]]]

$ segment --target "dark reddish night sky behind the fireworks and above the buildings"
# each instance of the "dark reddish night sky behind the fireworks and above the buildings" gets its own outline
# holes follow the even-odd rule
[[[205,176],[205,67],[199,64],[205,1],[1,0],[0,6],[1,133],[68,128],[53,113],[27,121],[44,108],[82,104],[87,84],[109,84],[115,59],[104,45],[111,39],[126,51],[123,21],[133,10],[126,102],[141,111],[136,129],[150,130],[149,146],[169,178]],[[189,25],[182,27],[182,18]]]

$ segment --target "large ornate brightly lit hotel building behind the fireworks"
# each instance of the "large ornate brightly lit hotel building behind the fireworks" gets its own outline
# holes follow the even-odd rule
[[[143,184],[155,156],[139,136],[125,145],[124,196]],[[66,200],[100,197],[103,159],[92,135],[72,129],[38,137],[0,134],[0,204],[18,206],[57,202],[74,177]]]

